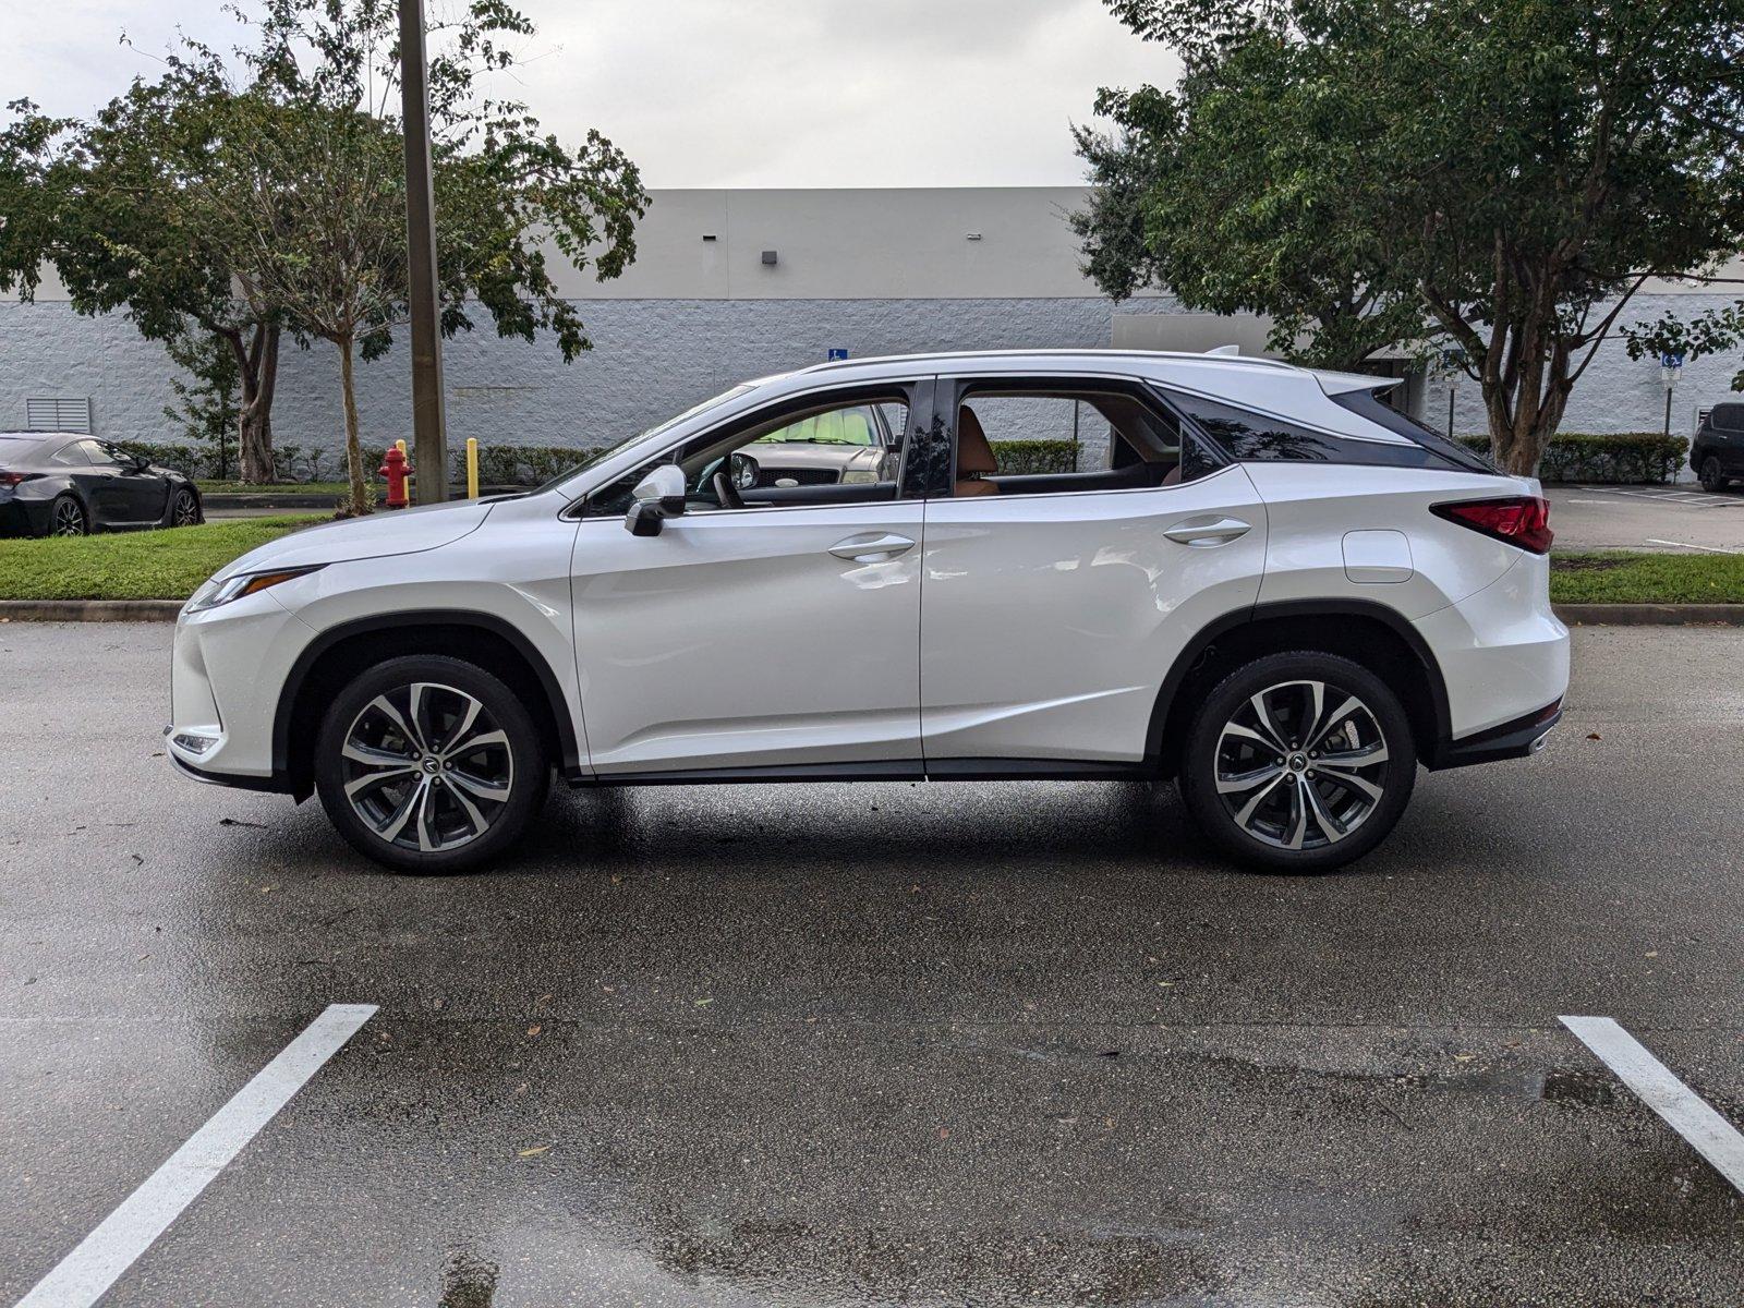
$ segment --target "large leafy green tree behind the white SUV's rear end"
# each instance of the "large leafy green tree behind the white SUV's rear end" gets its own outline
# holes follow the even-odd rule
[[[1125,228],[1085,215],[1092,270],[1273,312],[1320,358],[1444,337],[1507,471],[1536,471],[1646,277],[1744,239],[1744,0],[1109,5],[1186,72],[1104,92],[1092,178],[1114,152],[1144,183]]]

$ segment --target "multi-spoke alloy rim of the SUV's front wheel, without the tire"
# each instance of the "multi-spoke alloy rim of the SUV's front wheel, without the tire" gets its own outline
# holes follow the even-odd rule
[[[476,841],[514,790],[508,732],[481,699],[436,682],[375,696],[340,748],[345,799],[382,841],[441,853]]]

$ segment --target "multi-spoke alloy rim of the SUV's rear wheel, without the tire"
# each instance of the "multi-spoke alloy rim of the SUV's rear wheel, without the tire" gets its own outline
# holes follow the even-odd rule
[[[1263,844],[1324,849],[1373,816],[1386,764],[1386,736],[1362,699],[1332,682],[1278,682],[1224,722],[1217,797]]]

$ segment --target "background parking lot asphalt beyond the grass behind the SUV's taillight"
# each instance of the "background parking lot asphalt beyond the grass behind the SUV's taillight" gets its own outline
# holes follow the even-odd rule
[[[1556,549],[1744,553],[1744,490],[1549,487]]]

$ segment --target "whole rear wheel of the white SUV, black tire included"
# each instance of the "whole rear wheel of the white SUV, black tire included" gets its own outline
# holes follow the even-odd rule
[[[1313,685],[1322,687],[1317,732],[1308,727]],[[1264,724],[1256,696],[1266,696]],[[1346,701],[1362,712],[1346,712]],[[1261,741],[1268,727],[1287,748]],[[1341,746],[1331,752],[1341,759],[1336,769],[1318,748],[1325,739]],[[1416,743],[1399,698],[1367,668],[1313,651],[1268,654],[1205,698],[1177,783],[1195,821],[1236,863],[1331,872],[1374,849],[1399,821],[1416,783]]]

